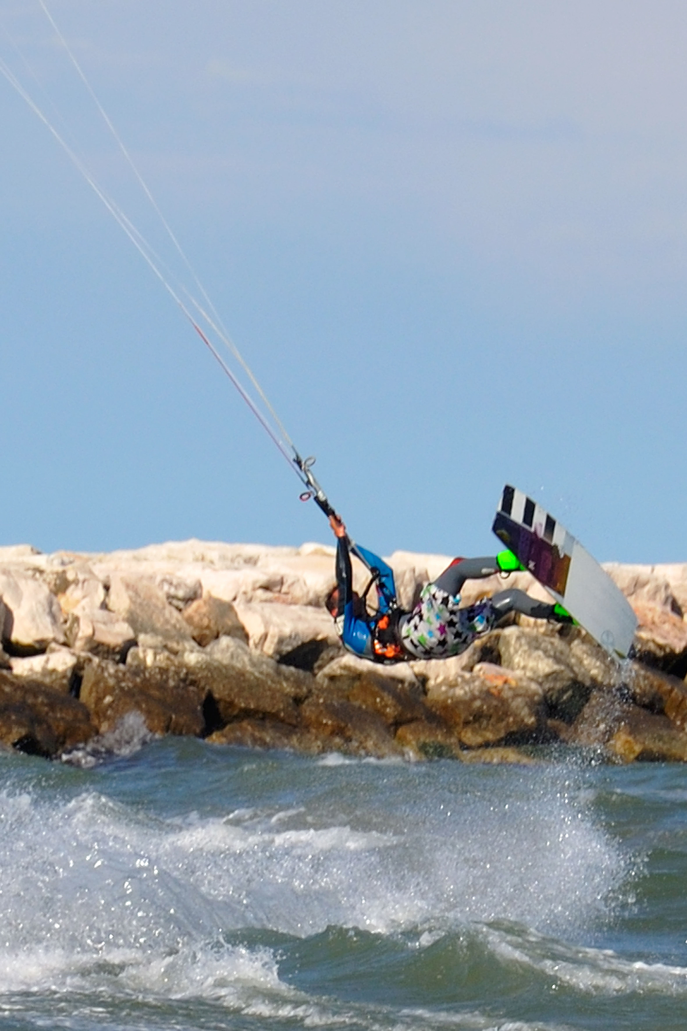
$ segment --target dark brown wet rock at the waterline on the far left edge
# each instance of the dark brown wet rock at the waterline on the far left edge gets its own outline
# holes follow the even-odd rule
[[[54,758],[95,734],[81,702],[54,688],[0,671],[0,741],[19,752]]]

